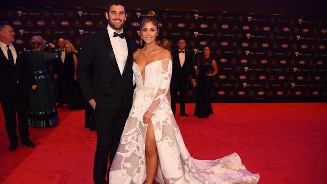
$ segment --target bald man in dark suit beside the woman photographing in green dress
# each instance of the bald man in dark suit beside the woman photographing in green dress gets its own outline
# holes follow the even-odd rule
[[[71,58],[66,56],[65,40],[63,38],[58,40],[58,47],[61,50],[61,54],[59,54],[60,57],[58,57],[53,64],[53,73],[54,79],[56,79],[56,88],[58,92],[59,104],[57,108],[60,108],[63,106],[63,103],[67,101],[67,92],[74,77],[74,63]]]

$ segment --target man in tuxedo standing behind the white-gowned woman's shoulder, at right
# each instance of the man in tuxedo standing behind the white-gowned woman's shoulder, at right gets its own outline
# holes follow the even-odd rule
[[[196,83],[193,58],[189,52],[185,51],[185,39],[180,38],[177,42],[178,51],[173,52],[173,72],[171,79],[171,101],[172,111],[176,113],[176,101],[178,91],[180,92],[180,115],[188,117],[185,113],[185,97],[189,72],[192,74],[192,84]]]

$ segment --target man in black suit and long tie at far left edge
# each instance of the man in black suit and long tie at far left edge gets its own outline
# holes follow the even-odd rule
[[[24,49],[13,44],[14,41],[13,28],[8,23],[0,23],[0,101],[10,140],[9,151],[15,151],[18,146],[16,113],[22,144],[35,146],[29,139],[27,109],[30,87],[36,89],[37,85]]]

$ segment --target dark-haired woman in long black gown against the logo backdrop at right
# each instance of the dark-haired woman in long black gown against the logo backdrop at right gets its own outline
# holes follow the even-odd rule
[[[207,118],[212,114],[211,89],[213,86],[213,76],[218,72],[217,62],[210,56],[211,50],[204,47],[204,57],[199,59],[196,69],[197,97],[194,109],[194,116]]]

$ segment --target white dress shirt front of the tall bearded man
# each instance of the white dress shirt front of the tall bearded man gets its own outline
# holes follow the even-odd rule
[[[116,61],[119,67],[120,74],[123,74],[125,63],[128,55],[127,42],[125,38],[120,38],[119,36],[113,37],[114,30],[108,25],[107,27],[111,46],[114,50]],[[123,30],[120,32],[122,33]]]

